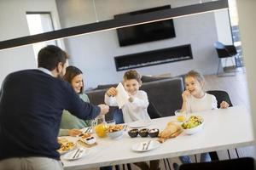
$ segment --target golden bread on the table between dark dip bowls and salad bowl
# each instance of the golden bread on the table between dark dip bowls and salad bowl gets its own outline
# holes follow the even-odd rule
[[[166,128],[158,135],[160,138],[158,140],[163,143],[166,139],[175,138],[180,133],[182,133],[182,127],[177,122],[168,122]]]

